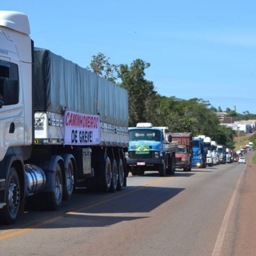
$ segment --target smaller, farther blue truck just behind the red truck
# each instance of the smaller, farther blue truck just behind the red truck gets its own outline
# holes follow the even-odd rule
[[[207,165],[207,149],[204,144],[204,139],[201,137],[194,137],[192,140],[192,166],[199,168],[206,168]]]

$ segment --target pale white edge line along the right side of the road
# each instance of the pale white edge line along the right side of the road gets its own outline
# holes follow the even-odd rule
[[[212,251],[212,254],[211,254],[212,256],[220,256],[221,248],[222,248],[224,238],[225,238],[225,233],[226,233],[226,230],[227,230],[227,224],[228,224],[228,221],[229,221],[229,218],[230,218],[230,215],[231,215],[231,210],[232,210],[233,205],[234,205],[234,200],[237,197],[238,189],[239,189],[239,186],[240,186],[240,183],[241,183],[241,180],[242,180],[242,176],[244,175],[244,173],[245,173],[245,168],[243,169],[243,172],[241,173],[241,175],[239,177],[237,185],[234,188],[234,191],[233,191],[233,194],[231,196],[229,205],[227,207],[224,219],[223,219],[222,224],[221,224],[221,228],[220,228],[220,231],[219,231],[219,234],[218,234],[215,246],[214,246],[214,250]]]

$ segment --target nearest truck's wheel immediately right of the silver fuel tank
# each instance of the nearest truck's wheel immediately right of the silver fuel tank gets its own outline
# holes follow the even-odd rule
[[[46,207],[49,210],[58,210],[61,206],[63,194],[63,183],[62,183],[62,173],[60,164],[57,163],[55,169],[55,187],[54,191],[50,193],[42,193],[42,201],[45,202]]]

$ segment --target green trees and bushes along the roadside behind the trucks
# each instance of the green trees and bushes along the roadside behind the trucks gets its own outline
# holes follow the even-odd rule
[[[129,94],[129,126],[135,126],[138,122],[151,122],[155,126],[168,126],[171,132],[191,132],[193,136],[205,135],[215,140],[218,144],[224,144],[235,148],[234,132],[230,127],[219,125],[216,111],[209,101],[200,98],[184,100],[175,96],[166,97],[160,95],[154,82],[145,78],[145,71],[150,68],[150,63],[142,59],[134,60],[131,65],[110,63],[110,59],[103,53],[92,56],[88,70],[108,79],[125,88]],[[175,84],[169,85],[169,90]],[[182,90],[182,89],[181,89]],[[229,116],[239,119],[255,118],[256,115],[245,111],[238,114],[226,109]],[[240,148],[245,141],[236,144]]]

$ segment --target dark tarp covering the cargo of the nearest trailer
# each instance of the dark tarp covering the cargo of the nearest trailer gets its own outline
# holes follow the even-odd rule
[[[35,111],[99,113],[103,122],[128,126],[125,89],[49,50],[34,50],[33,90]]]

